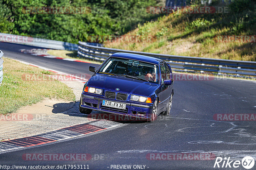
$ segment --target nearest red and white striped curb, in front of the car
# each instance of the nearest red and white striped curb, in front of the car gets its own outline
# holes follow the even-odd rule
[[[91,133],[107,130],[120,125],[122,125],[122,123],[112,122],[108,120],[94,120],[85,124],[78,124],[56,131],[41,133],[25,138],[3,141],[0,142],[0,153],[85,136]]]

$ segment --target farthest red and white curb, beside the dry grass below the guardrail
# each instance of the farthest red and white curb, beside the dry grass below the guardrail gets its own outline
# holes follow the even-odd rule
[[[82,62],[82,63],[90,63],[86,61],[81,61],[81,60],[76,60],[76,59],[68,59],[68,58],[62,58],[62,57],[56,57],[50,54],[47,54],[47,51],[50,49],[20,49],[21,53],[26,53],[26,54],[31,54],[31,55],[36,55],[36,56],[41,56],[41,57],[46,57],[46,58],[52,58],[52,59],[60,59],[60,60],[67,60],[67,61],[76,61],[76,62]]]

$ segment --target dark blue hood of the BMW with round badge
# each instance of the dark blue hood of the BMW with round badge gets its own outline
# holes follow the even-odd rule
[[[98,89],[117,91],[138,96],[149,96],[158,84],[147,81],[114,76],[110,74],[94,74],[87,82],[87,86]]]

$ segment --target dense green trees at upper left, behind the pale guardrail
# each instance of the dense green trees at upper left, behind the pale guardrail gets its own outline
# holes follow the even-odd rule
[[[25,7],[89,7],[83,14],[31,14]],[[89,35],[122,35],[156,17],[150,0],[0,0],[0,32],[77,43]]]

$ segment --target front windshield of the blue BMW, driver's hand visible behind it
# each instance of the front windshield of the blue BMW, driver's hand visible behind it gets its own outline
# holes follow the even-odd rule
[[[110,58],[98,73],[128,75],[128,78],[133,76],[145,81],[159,82],[158,65],[130,59]]]

